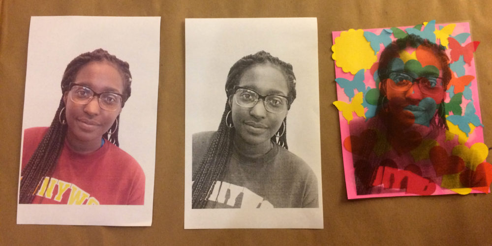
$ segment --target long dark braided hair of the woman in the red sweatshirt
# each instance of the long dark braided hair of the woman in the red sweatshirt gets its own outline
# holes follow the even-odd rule
[[[58,163],[58,158],[62,153],[68,127],[65,120],[65,102],[63,101],[63,95],[70,90],[71,84],[75,81],[77,73],[82,67],[89,62],[102,61],[111,62],[116,65],[123,78],[124,90],[122,107],[124,106],[124,102],[130,97],[131,73],[129,65],[127,62],[123,62],[116,56],[109,54],[107,51],[96,49],[92,52],[83,53],[68,63],[62,77],[62,98],[60,99],[60,105],[55,113],[55,117],[28,163],[21,171],[22,179],[19,191],[19,203],[24,204],[32,202],[35,193],[40,188],[40,182],[55,170]],[[116,130],[112,130],[110,134],[105,133],[102,136],[116,146],[119,146],[117,127],[119,118],[120,116],[116,118],[111,126],[111,129],[116,128]]]

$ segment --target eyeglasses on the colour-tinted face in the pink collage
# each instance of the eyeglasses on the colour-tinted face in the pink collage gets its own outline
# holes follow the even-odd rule
[[[415,78],[412,75],[401,71],[389,71],[388,78],[395,83],[390,83],[390,87],[398,91],[408,91],[413,83],[419,84],[419,89],[424,94],[436,94],[443,92],[441,77],[427,76]]]

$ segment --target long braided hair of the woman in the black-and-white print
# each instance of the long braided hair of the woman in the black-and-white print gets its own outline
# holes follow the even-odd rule
[[[237,61],[229,70],[227,81],[225,83],[225,92],[227,98],[234,95],[234,86],[239,85],[243,73],[256,64],[272,64],[280,69],[287,81],[287,110],[296,98],[296,77],[292,69],[292,65],[280,61],[277,57],[273,57],[268,52],[260,51],[254,55],[248,55]],[[223,177],[227,169],[227,164],[232,154],[233,137],[235,134],[234,128],[227,126],[227,115],[231,111],[231,107],[226,100],[224,113],[218,126],[217,132],[211,140],[211,143],[205,153],[200,166],[193,174],[192,185],[192,208],[204,208],[207,200],[212,192],[211,187],[217,180]],[[272,136],[271,141],[288,149],[287,146],[287,128],[286,118],[283,120],[283,129],[279,129],[280,137],[277,139],[277,134]],[[230,123],[229,123],[230,124]],[[278,134],[278,135],[280,135]]]

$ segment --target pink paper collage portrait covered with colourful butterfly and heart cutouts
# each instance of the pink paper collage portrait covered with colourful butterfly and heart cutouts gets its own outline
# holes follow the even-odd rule
[[[349,199],[488,193],[469,23],[334,31]]]

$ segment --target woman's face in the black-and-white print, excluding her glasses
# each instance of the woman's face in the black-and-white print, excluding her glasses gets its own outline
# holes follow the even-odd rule
[[[289,89],[287,80],[277,66],[270,63],[256,64],[249,67],[242,75],[238,86],[251,89],[260,95],[277,94],[287,96]],[[232,121],[236,129],[236,137],[247,144],[258,145],[270,141],[287,116],[284,112],[275,114],[267,111],[264,99],[259,99],[256,105],[246,108],[238,105],[233,95],[229,98],[232,111]]]

